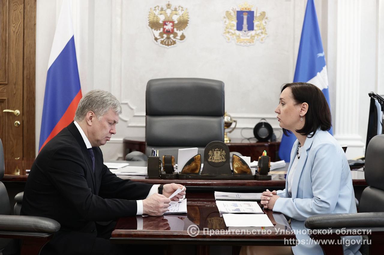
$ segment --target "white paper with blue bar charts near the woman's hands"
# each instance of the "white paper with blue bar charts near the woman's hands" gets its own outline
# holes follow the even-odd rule
[[[253,201],[216,201],[220,213],[263,213],[263,210]]]

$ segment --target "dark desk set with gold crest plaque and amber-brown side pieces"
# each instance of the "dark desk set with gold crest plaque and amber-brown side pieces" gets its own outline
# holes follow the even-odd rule
[[[196,156],[195,156],[196,157]],[[194,158],[195,158],[194,157]],[[188,162],[193,162],[195,159],[192,158]],[[240,159],[240,158],[239,158]],[[242,159],[240,159],[242,160]],[[239,162],[239,161],[237,161]],[[242,163],[245,163],[243,160]],[[186,164],[186,166],[188,163]],[[245,163],[247,165],[247,163]],[[239,166],[239,165],[237,165]],[[248,167],[249,168],[249,167]],[[220,142],[214,141],[210,142],[204,150],[204,166],[201,170],[201,173],[186,173],[184,168],[182,173],[179,174],[179,179],[204,179],[204,180],[215,180],[215,179],[227,179],[227,180],[253,180],[255,177],[252,175],[252,172],[245,171],[244,173],[232,173],[230,168],[230,159],[229,159],[229,148],[228,145]]]

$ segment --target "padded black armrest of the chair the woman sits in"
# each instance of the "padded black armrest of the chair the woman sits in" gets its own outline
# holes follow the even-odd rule
[[[316,214],[305,221],[308,229],[360,229],[384,231],[384,212]]]

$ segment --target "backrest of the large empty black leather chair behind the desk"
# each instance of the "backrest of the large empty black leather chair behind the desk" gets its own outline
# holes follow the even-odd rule
[[[224,141],[224,83],[200,78],[149,80],[146,89],[146,154]]]

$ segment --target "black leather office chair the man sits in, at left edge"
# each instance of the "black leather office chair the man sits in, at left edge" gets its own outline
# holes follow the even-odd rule
[[[0,140],[0,180],[4,177],[4,153]],[[59,222],[45,217],[10,215],[8,192],[0,181],[0,254],[7,245],[20,239],[20,254],[38,255],[41,248],[60,229]]]

